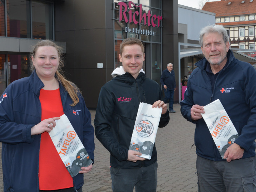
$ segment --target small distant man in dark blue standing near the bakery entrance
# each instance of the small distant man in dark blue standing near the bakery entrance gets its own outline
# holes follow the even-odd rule
[[[167,103],[169,100],[169,111],[175,113],[176,111],[173,110],[173,95],[176,90],[176,82],[172,63],[167,64],[167,69],[162,72],[160,81],[165,89],[164,102]]]

